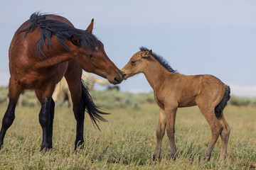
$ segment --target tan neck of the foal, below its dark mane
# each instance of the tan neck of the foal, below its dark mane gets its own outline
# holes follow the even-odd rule
[[[146,80],[149,81],[152,89],[158,89],[159,86],[163,84],[164,79],[166,79],[166,76],[170,74],[170,72],[156,60],[147,62],[149,63],[145,64],[147,67],[144,68],[143,73]]]

